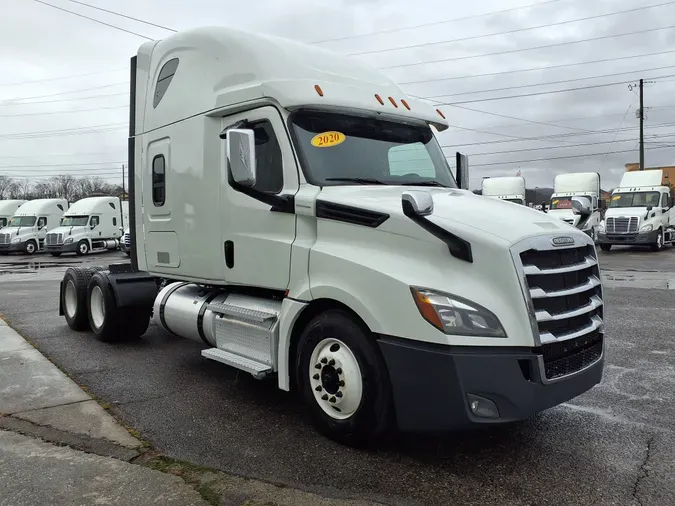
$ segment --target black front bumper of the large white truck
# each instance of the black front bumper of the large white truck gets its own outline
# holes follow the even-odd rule
[[[602,380],[604,335],[592,339],[583,349],[565,350],[564,367],[592,356],[588,365],[555,380],[547,380],[543,373],[543,356],[550,348],[542,352],[541,348],[441,346],[388,336],[378,343],[389,372],[399,429],[443,432],[522,420],[591,389]],[[589,347],[589,343],[595,344]],[[560,345],[555,345],[558,351],[565,348]],[[560,366],[556,360],[548,367]],[[475,397],[468,395],[494,403],[497,417],[474,414],[470,399]]]

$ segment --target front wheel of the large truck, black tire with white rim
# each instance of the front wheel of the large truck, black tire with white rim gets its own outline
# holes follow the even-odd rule
[[[295,363],[298,391],[320,433],[360,447],[388,431],[393,402],[386,365],[372,335],[349,313],[328,310],[311,320]]]

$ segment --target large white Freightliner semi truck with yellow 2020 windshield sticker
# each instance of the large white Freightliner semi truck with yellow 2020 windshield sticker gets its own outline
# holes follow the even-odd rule
[[[140,47],[130,106],[131,262],[67,270],[71,328],[126,340],[152,315],[345,444],[510,422],[601,381],[591,239],[458,188],[442,113],[380,72],[197,28]]]

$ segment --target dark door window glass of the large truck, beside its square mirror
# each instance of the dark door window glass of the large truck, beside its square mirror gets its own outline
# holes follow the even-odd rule
[[[269,121],[252,125],[255,133],[256,190],[279,193],[284,185],[281,147]]]

